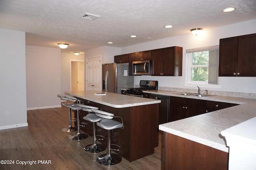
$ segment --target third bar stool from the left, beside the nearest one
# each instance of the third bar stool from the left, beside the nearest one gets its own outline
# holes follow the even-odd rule
[[[104,140],[105,139],[105,137],[102,135],[96,135],[96,124],[95,123],[98,121],[101,121],[103,118],[96,116],[94,113],[91,113],[92,109],[98,109],[98,107],[86,106],[86,105],[80,105],[80,104],[78,105],[78,107],[81,107],[83,111],[88,111],[88,114],[86,116],[84,116],[83,119],[92,122],[92,132],[93,132],[92,137],[93,137],[94,143],[85,146],[84,150],[86,152],[90,152],[90,153],[99,153],[99,152],[106,150],[105,145],[96,143],[96,140]],[[101,139],[96,138],[96,136],[101,137]]]

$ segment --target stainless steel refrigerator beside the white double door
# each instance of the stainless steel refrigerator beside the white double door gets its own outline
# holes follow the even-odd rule
[[[134,78],[129,76],[128,63],[102,64],[102,91],[121,94],[121,88],[133,88]]]

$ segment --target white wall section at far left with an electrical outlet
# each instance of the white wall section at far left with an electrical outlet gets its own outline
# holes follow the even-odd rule
[[[0,51],[0,130],[28,126],[25,32],[0,29]]]

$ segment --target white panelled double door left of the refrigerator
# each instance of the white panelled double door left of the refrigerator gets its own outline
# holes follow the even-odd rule
[[[86,90],[101,91],[101,57],[87,59]]]

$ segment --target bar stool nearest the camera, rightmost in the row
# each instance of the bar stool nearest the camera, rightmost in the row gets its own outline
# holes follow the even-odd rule
[[[116,165],[121,162],[122,157],[118,154],[111,154],[111,150],[119,151],[121,150],[121,147],[116,144],[111,144],[110,131],[117,128],[124,129],[123,118],[120,116],[115,116],[113,113],[108,113],[106,111],[101,111],[98,109],[92,109],[92,112],[94,112],[96,116],[104,118],[102,121],[96,123],[97,126],[101,127],[102,129],[108,130],[108,153],[98,156],[96,160],[99,164],[102,165]],[[121,119],[122,123],[112,120],[113,118]],[[117,146],[119,149],[112,149],[111,145]]]

